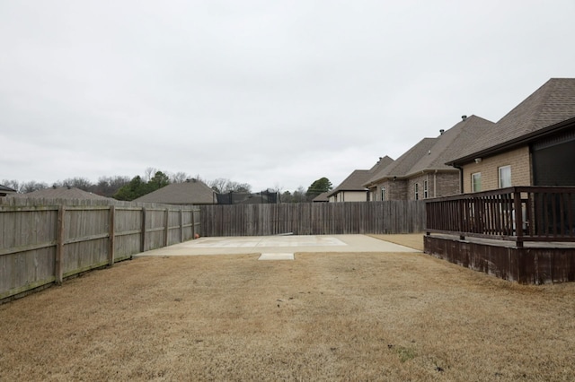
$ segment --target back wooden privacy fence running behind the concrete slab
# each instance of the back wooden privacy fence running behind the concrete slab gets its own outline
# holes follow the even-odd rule
[[[203,236],[422,232],[425,202],[346,202],[200,206]]]

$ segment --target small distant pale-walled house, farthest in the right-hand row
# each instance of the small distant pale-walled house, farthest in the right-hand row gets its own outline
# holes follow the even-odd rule
[[[371,169],[356,169],[348,178],[345,178],[338,187],[327,194],[328,200],[333,202],[367,202],[370,195],[364,184],[377,172],[385,169],[394,160],[385,155]]]

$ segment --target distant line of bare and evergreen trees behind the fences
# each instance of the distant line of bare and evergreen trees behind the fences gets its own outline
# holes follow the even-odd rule
[[[11,187],[20,194],[27,194],[49,187],[75,187],[86,192],[96,195],[112,197],[117,200],[131,201],[140,196],[154,192],[155,190],[168,186],[172,183],[183,183],[190,178],[195,178],[204,182],[219,194],[229,192],[252,193],[252,186],[247,183],[235,182],[226,178],[217,178],[214,180],[202,179],[198,176],[191,177],[185,172],[170,173],[155,168],[147,168],[143,176],[133,178],[125,176],[101,177],[93,183],[87,178],[75,177],[58,180],[52,185],[45,182],[31,180],[21,182],[15,179],[4,179],[2,184]],[[282,192],[279,187],[269,188],[269,191],[278,192],[282,203],[303,203],[310,202],[317,195],[332,190],[332,182],[328,178],[319,178],[315,180],[306,190],[304,187],[298,187],[295,191]]]

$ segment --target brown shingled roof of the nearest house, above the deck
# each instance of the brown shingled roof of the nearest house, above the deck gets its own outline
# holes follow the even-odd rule
[[[511,147],[522,138],[575,117],[575,78],[552,78],[448,163]]]

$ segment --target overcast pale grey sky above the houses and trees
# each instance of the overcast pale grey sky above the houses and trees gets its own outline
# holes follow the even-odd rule
[[[575,76],[575,2],[0,0],[0,179],[337,186]]]

